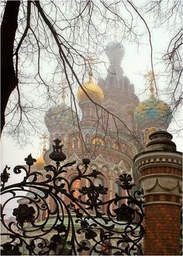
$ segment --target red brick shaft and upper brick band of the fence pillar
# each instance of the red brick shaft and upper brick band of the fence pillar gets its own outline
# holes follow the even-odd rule
[[[156,171],[157,170],[157,171]],[[155,167],[143,170],[150,174],[175,174],[180,170],[170,167]],[[181,178],[181,177],[180,177]],[[179,255],[181,230],[180,196],[171,191],[151,191],[145,195],[145,255]]]

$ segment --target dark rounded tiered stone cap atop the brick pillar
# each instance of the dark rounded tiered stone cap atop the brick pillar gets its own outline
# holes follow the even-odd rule
[[[166,131],[157,131],[150,135],[146,151],[158,150],[176,152],[176,145],[171,141],[172,135]]]

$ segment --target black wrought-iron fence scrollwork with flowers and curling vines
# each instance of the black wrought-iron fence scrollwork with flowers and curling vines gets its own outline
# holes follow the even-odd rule
[[[108,188],[94,182],[103,174],[89,170],[90,160],[84,159],[76,167],[77,175],[67,181],[67,167],[75,162],[61,165],[66,156],[60,140],[54,142],[50,159],[55,165],[34,171],[36,160],[29,155],[25,159],[27,167],[17,166],[13,170],[23,176],[21,181],[9,184],[7,166],[1,175],[1,195],[5,197],[1,207],[5,236],[2,255],[143,254],[143,202],[140,191],[131,191],[132,177],[120,175],[119,186],[126,195],[116,194],[105,201]],[[74,194],[74,181],[85,184],[78,189],[78,196]],[[7,223],[6,212],[13,205],[12,200],[19,205],[12,209],[14,219]]]

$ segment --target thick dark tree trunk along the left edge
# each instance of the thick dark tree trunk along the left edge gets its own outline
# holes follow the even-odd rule
[[[17,19],[20,1],[7,1],[2,19],[1,30],[1,132],[5,125],[5,107],[12,90],[16,88],[18,79],[13,65],[13,44],[18,26]]]

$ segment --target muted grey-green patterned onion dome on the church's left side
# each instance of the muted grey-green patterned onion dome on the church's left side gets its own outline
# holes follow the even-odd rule
[[[76,123],[76,113],[67,105],[51,107],[44,116],[44,122],[49,132],[54,132],[64,128],[69,130],[74,128]]]

